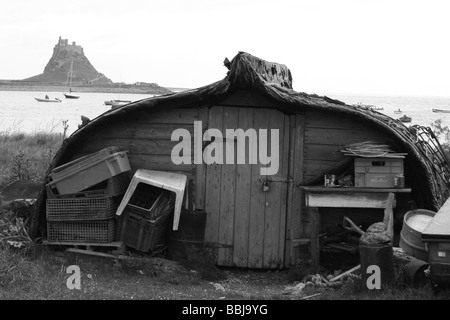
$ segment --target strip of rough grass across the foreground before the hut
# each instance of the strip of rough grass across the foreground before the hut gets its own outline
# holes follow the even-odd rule
[[[67,267],[78,265],[81,288],[70,290]],[[288,271],[223,270],[226,278],[212,282],[195,269],[161,258],[129,256],[104,259],[51,251],[36,245],[24,254],[0,250],[1,300],[447,300],[425,284],[367,290],[361,282],[337,289],[308,286],[286,294]]]

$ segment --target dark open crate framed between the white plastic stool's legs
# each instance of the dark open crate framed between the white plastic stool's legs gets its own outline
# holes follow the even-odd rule
[[[140,183],[127,204],[128,212],[154,220],[165,210],[173,210],[175,194],[171,191]]]

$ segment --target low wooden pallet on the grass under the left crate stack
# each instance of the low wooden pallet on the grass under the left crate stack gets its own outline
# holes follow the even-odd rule
[[[121,259],[124,256],[121,255],[125,253],[125,245],[121,241],[114,241],[114,242],[70,242],[70,241],[43,241],[43,244],[46,246],[58,246],[58,247],[68,247],[65,251],[70,253],[77,253],[77,254],[86,254],[86,255],[93,255],[98,257],[104,257],[104,258],[113,258],[113,259]],[[104,253],[96,251],[98,248],[116,248],[116,250],[121,253],[119,255]],[[83,249],[82,249],[83,248]]]

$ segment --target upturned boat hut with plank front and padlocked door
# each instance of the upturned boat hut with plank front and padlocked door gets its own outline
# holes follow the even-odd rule
[[[216,248],[217,264],[245,268],[284,268],[309,259],[317,250],[314,239],[341,224],[343,216],[358,225],[383,219],[383,206],[322,205],[321,220],[317,211],[307,208],[307,187],[323,187],[325,174],[340,174],[349,166],[352,172],[343,146],[379,141],[407,154],[405,192],[384,190],[396,196],[396,225],[411,206],[438,210],[447,199],[448,161],[427,128],[407,128],[373,109],[296,92],[285,65],[245,52],[224,65],[227,74],[218,82],[132,102],[91,120],[64,141],[49,170],[114,145],[128,150],[132,170],[183,173],[189,181],[185,205],[206,211],[204,240]],[[180,135],[173,139],[177,129],[198,139],[189,147],[192,152],[178,152]],[[204,136],[208,129],[217,129],[209,131],[215,139],[223,134],[223,149],[216,143],[212,151],[217,141]],[[240,161],[238,138],[226,135],[238,129],[248,133],[247,142],[255,138],[249,129],[260,139],[258,144],[247,143]],[[261,141],[270,142],[264,146]],[[173,160],[174,150],[184,161]],[[216,161],[207,163],[211,158]],[[277,170],[267,175],[261,168],[270,165]],[[348,187],[346,194],[357,198],[357,191]],[[46,234],[45,199],[43,188],[32,219],[35,238]],[[385,203],[379,196],[375,200]]]

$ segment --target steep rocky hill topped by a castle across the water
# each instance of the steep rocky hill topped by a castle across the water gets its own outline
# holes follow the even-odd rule
[[[95,70],[84,50],[75,42],[69,44],[67,39],[59,37],[53,48],[53,55],[44,68],[44,73],[24,79],[24,81],[65,84],[73,61],[72,84],[108,84],[112,83],[104,74]]]

